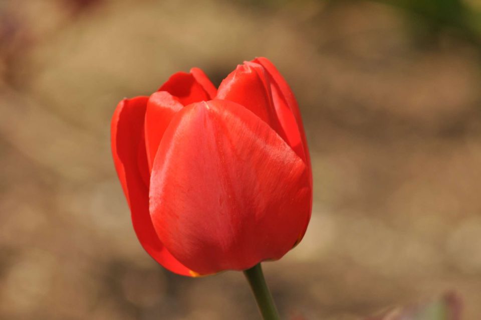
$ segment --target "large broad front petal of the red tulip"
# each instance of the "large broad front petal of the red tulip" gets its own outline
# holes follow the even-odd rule
[[[305,163],[264,121],[213,100],[179,111],[150,179],[150,214],[169,251],[200,274],[279,259],[310,214]]]

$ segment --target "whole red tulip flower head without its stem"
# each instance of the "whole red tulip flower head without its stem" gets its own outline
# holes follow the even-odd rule
[[[277,260],[312,207],[309,150],[294,95],[266,58],[216,89],[197,68],[122,100],[112,153],[137,237],[170,271],[204,275]]]

